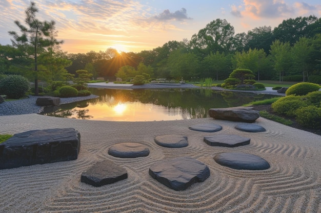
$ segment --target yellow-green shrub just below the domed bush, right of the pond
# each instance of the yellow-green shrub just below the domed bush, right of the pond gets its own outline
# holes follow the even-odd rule
[[[274,112],[289,116],[294,116],[298,108],[305,106],[307,103],[303,101],[302,97],[295,96],[280,98],[271,105]]]

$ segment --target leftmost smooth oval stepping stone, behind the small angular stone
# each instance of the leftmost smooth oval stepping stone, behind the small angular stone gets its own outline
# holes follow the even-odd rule
[[[111,146],[108,154],[121,158],[145,157],[149,155],[149,149],[138,143],[121,143]]]

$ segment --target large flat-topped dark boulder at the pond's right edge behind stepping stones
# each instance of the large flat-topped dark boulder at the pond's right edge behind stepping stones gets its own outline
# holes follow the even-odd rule
[[[259,117],[259,112],[251,108],[212,108],[209,109],[210,117],[218,120],[253,123]]]

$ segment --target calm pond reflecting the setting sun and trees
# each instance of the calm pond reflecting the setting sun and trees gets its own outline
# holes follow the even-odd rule
[[[98,121],[171,121],[209,117],[210,108],[242,106],[275,96],[210,89],[97,89],[99,96],[45,107],[41,114]]]

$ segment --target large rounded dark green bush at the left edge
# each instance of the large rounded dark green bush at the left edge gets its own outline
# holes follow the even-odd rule
[[[0,80],[0,94],[5,94],[9,99],[23,98],[29,89],[30,83],[23,76],[10,75]]]

